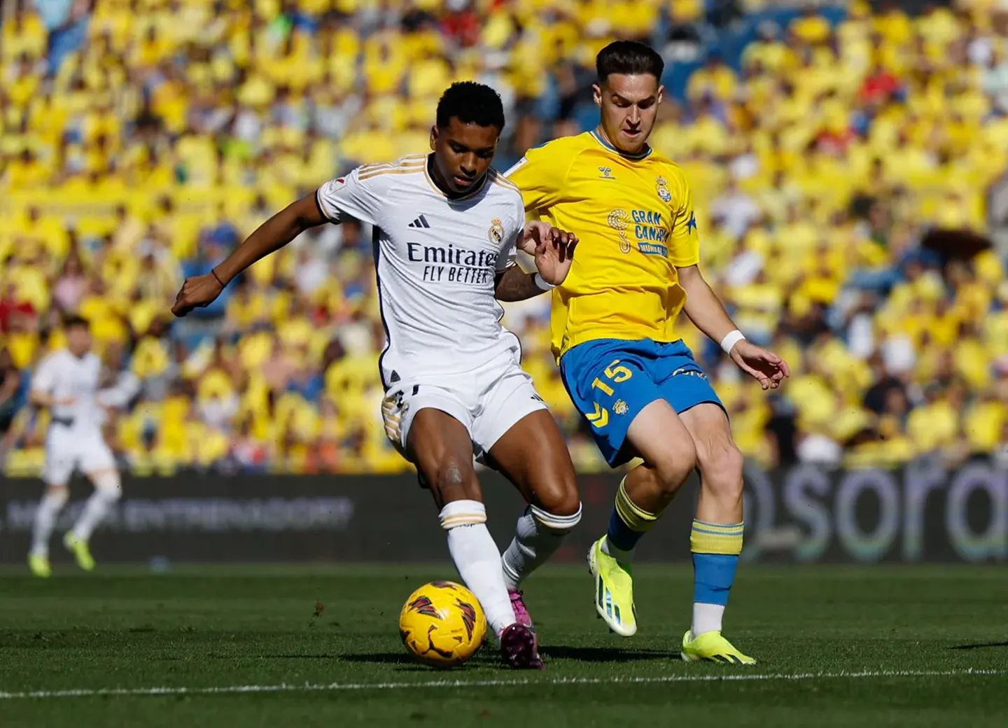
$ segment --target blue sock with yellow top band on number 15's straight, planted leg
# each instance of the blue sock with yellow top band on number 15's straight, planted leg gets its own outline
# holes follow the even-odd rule
[[[720,632],[735,570],[742,553],[743,523],[694,520],[689,551],[694,562],[694,636]]]

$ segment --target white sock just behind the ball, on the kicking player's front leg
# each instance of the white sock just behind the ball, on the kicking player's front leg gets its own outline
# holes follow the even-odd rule
[[[459,576],[480,600],[487,622],[499,635],[516,620],[504,586],[501,553],[487,529],[486,507],[478,500],[456,500],[438,517],[448,531],[448,550]]]

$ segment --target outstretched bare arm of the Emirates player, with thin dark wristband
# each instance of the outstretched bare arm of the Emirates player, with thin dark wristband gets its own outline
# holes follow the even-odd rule
[[[209,273],[187,278],[175,297],[171,313],[185,316],[212,304],[231,280],[257,260],[275,252],[303,233],[329,222],[316,195],[292,203],[264,222],[227,259]]]

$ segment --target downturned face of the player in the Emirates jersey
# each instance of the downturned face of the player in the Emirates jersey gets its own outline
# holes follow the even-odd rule
[[[430,129],[435,181],[450,195],[465,195],[487,173],[501,130],[496,126],[463,124],[452,117],[445,128]]]

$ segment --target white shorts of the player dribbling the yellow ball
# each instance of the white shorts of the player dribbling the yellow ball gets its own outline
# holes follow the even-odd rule
[[[524,417],[547,409],[516,353],[500,356],[466,374],[403,378],[389,387],[382,400],[385,434],[405,454],[413,417],[421,409],[440,409],[469,431],[478,459]]]

